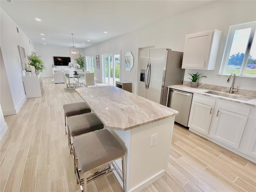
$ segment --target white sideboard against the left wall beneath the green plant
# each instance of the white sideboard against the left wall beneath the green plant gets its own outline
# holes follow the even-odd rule
[[[43,80],[42,73],[35,76],[22,76],[26,98],[42,97]]]

